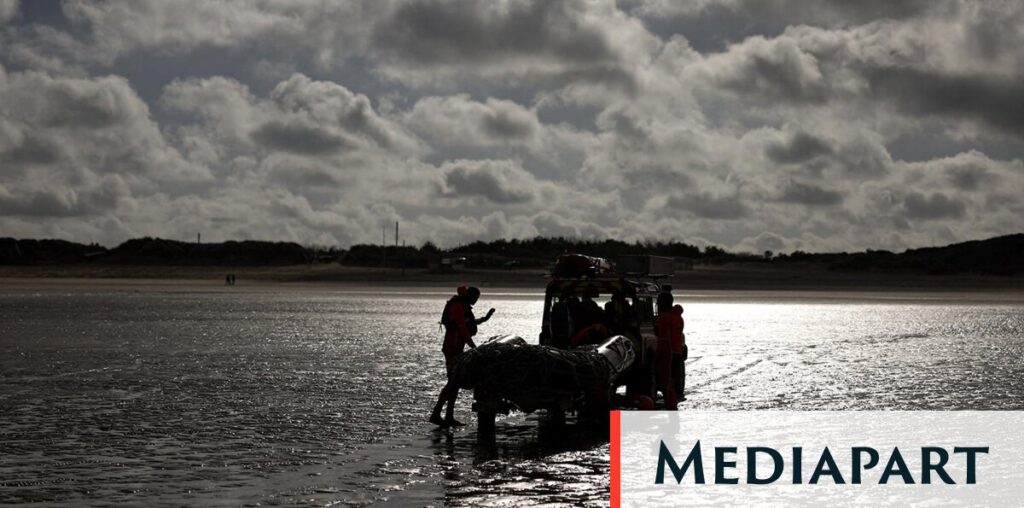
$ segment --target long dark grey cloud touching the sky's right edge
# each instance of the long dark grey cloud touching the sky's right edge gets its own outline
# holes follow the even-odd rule
[[[911,115],[972,118],[997,130],[1024,133],[1024,81],[914,69],[873,69],[871,93]]]

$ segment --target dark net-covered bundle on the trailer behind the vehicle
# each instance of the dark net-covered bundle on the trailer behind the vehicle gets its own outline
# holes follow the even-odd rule
[[[460,388],[473,388],[531,412],[565,397],[605,398],[613,372],[593,346],[563,350],[490,342],[463,353],[451,376]]]

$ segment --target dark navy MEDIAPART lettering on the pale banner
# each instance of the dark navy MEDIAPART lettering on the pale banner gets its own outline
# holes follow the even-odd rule
[[[847,475],[843,474],[843,468],[833,457],[831,451],[825,447],[818,454],[818,459],[809,478],[804,477],[804,448],[793,447],[788,453],[768,447],[748,447],[745,452],[739,454],[738,447],[715,447],[714,453],[714,479],[716,484],[738,484],[745,481],[752,485],[764,485],[783,479],[783,473],[788,469],[791,474],[786,476],[791,484],[817,484],[827,478],[835,484],[860,484],[863,482],[863,473],[880,464],[881,455],[878,450],[871,447],[853,447],[849,449],[850,469]],[[889,483],[893,478],[905,484],[921,483],[931,484],[933,478],[937,478],[943,483],[954,484],[956,480],[949,474],[946,467],[950,465],[950,452],[942,447],[922,447],[921,467],[914,469],[907,466],[903,459],[903,453],[899,447],[894,447],[889,453],[885,467],[878,479],[879,484]],[[952,455],[964,456],[964,468],[966,474],[962,481],[968,484],[977,483],[977,456],[987,454],[988,447],[953,447]],[[739,454],[745,458],[746,475],[740,478],[730,474],[737,467],[737,461],[733,459]],[[765,475],[758,473],[758,458],[768,458],[771,462],[770,472]],[[692,470],[693,483],[705,484],[708,480],[705,474],[705,460],[701,454],[700,441],[696,441],[682,466],[676,463],[672,452],[660,441],[660,449],[657,453],[657,472],[654,473],[654,483],[665,483],[665,471],[668,468],[672,472],[676,483],[682,483],[688,470]],[[764,471],[764,469],[762,469]],[[849,479],[848,479],[849,478]]]

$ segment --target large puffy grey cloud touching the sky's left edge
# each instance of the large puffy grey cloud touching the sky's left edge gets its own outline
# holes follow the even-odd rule
[[[168,143],[145,102],[116,76],[63,78],[0,68],[0,161],[11,176],[18,168],[45,169],[18,186],[79,184],[101,174],[123,175],[137,186],[150,179],[183,184],[209,178]]]

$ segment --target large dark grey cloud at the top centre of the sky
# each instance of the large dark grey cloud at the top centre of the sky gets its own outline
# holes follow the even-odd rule
[[[413,86],[458,69],[446,79],[482,78],[492,83],[485,88],[584,82],[632,93],[636,78],[623,52],[636,48],[610,40],[609,31],[618,27],[607,25],[608,19],[586,15],[606,6],[575,0],[413,1],[377,24],[371,47],[384,62],[383,75]],[[515,76],[516,82],[503,83],[496,76]]]

